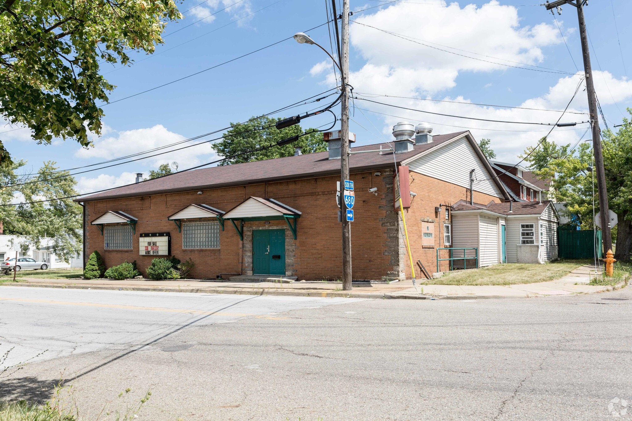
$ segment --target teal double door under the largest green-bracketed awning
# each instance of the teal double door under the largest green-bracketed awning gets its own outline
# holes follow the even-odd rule
[[[253,230],[253,275],[285,275],[285,230]]]

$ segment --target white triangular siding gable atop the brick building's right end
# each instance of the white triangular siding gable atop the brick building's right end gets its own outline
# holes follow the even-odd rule
[[[475,177],[483,180],[475,182],[474,190],[498,198],[502,197],[498,186],[489,179],[493,174],[487,172],[465,137],[430,150],[425,155],[408,162],[408,167],[411,171],[465,188],[470,188],[470,170],[474,169]]]

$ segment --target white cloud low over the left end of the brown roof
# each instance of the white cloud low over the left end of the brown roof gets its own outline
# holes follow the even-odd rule
[[[94,139],[94,147],[80,148],[75,152],[75,157],[99,158],[99,160],[107,160],[125,155],[133,155],[146,150],[161,148],[162,146],[186,140],[185,136],[173,133],[161,124],[157,124],[154,127],[146,129],[111,132],[111,134],[112,136]],[[183,170],[199,165],[200,163],[211,161],[213,158],[216,158],[217,155],[212,150],[211,144],[204,143],[204,141],[205,139],[188,141],[181,143],[180,145],[173,145],[168,148],[147,153],[147,155],[155,155],[158,153],[161,153],[161,155],[137,161],[137,165],[139,169],[148,166],[155,168],[162,163],[177,161],[179,162],[179,169]],[[198,146],[191,146],[189,148],[176,151],[178,148],[190,145]],[[170,152],[163,153],[167,151]],[[139,157],[132,157],[130,159],[136,159]]]

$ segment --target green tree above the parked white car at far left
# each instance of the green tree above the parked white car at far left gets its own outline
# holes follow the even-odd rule
[[[58,171],[55,162],[45,162],[37,174],[20,177],[16,171],[25,161],[0,167],[0,204],[15,203],[16,206],[0,206],[0,218],[4,234],[18,236],[22,251],[28,247],[40,247],[42,239],[49,237],[51,251],[64,261],[70,261],[82,250],[82,207],[68,196],[75,196],[76,181],[68,177],[68,171]],[[66,198],[66,199],[58,199]],[[44,203],[29,203],[54,199]]]

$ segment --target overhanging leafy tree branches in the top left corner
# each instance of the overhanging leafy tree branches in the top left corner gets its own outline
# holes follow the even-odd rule
[[[100,134],[114,86],[100,65],[130,62],[128,50],[154,52],[173,0],[4,0],[0,3],[0,115],[24,124],[38,143]],[[10,159],[0,143],[0,163]]]

